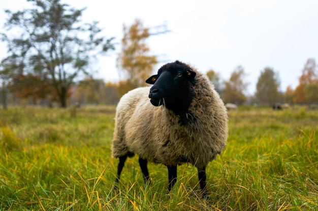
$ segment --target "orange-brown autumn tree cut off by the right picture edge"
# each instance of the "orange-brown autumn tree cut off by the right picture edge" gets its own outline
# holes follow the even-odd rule
[[[295,89],[294,102],[317,103],[318,102],[318,73],[314,59],[308,59],[302,75],[299,77],[299,85]]]

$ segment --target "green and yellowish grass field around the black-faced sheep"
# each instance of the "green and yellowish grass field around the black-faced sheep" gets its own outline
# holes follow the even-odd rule
[[[228,146],[207,167],[209,199],[197,170],[148,164],[135,156],[113,190],[115,107],[0,110],[0,210],[317,210],[318,111],[305,107],[229,111]]]

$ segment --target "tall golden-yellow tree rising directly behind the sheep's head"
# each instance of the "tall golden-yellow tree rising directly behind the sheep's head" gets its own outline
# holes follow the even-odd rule
[[[144,27],[141,20],[136,19],[130,26],[123,25],[123,38],[121,39],[121,52],[117,58],[117,68],[122,77],[120,93],[124,94],[131,89],[145,85],[145,80],[152,74],[154,66],[158,63],[155,55],[150,55],[146,40],[155,34],[166,33],[165,28],[150,32]]]

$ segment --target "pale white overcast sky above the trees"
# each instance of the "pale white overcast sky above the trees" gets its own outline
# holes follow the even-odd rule
[[[81,9],[84,22],[99,21],[107,37],[115,36],[115,52],[93,65],[97,78],[118,80],[116,57],[120,51],[122,25],[136,18],[145,27],[166,23],[172,32],[150,37],[151,53],[162,61],[156,69],[174,60],[191,63],[200,71],[213,69],[228,80],[242,65],[250,83],[249,94],[256,90],[260,72],[271,67],[279,73],[281,90],[295,88],[307,59],[318,63],[318,1],[146,1],[146,0],[63,0]],[[0,30],[6,21],[4,9],[13,12],[28,7],[26,0],[0,0]],[[0,59],[6,57],[0,44]]]

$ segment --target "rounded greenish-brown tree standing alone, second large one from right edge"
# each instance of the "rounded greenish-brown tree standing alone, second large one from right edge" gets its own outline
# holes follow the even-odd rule
[[[280,99],[279,93],[280,80],[278,73],[270,67],[265,67],[261,71],[256,85],[256,99],[260,104],[273,104]]]

